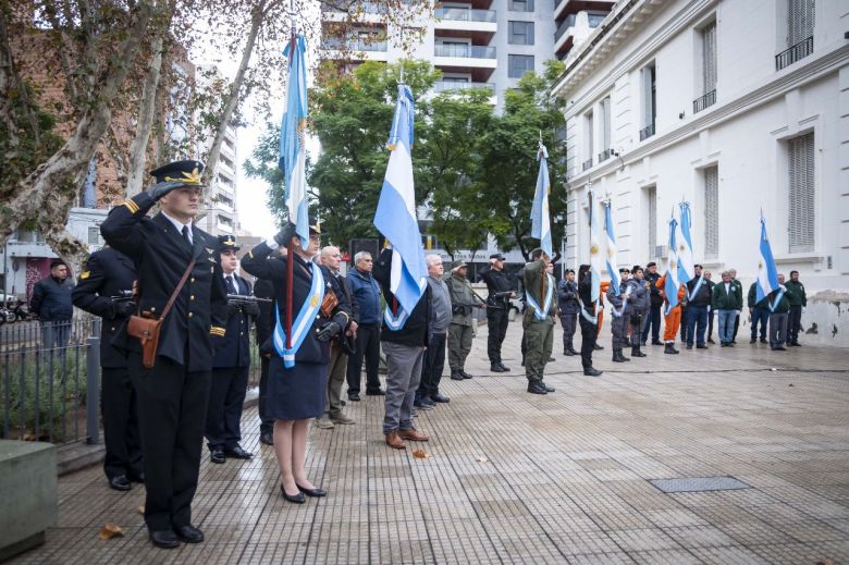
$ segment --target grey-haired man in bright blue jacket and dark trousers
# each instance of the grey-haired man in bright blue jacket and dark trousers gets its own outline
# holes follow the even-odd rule
[[[348,357],[347,381],[348,400],[359,401],[359,384],[362,380],[362,360],[366,360],[366,395],[381,396],[380,389],[380,327],[382,306],[380,285],[371,275],[374,266],[371,254],[359,251],[354,255],[354,269],[346,280],[354,300],[359,307],[359,326],[354,355]]]

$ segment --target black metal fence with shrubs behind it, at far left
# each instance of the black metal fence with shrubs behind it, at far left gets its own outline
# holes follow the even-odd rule
[[[260,363],[250,334],[248,389]],[[100,318],[0,326],[0,438],[100,442]]]

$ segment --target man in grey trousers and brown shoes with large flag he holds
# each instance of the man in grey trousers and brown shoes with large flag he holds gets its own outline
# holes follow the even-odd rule
[[[413,185],[414,116],[413,90],[402,82],[387,144],[392,152],[374,212],[374,228],[391,245],[374,265],[374,279],[386,299],[380,332],[387,369],[383,434],[386,445],[396,450],[405,449],[404,440],[428,441],[428,435],[413,426],[431,308]]]

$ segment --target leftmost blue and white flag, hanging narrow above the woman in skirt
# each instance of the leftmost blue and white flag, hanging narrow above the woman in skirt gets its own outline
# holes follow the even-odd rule
[[[286,183],[288,221],[306,249],[309,246],[309,209],[307,200],[307,44],[303,35],[296,36],[283,51],[288,59],[286,85],[286,113],[280,126],[280,153],[278,167]]]

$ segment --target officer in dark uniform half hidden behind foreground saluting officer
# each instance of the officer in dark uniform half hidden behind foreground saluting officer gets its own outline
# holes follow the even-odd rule
[[[133,260],[111,247],[103,247],[88,258],[71,294],[74,306],[103,319],[100,326],[103,471],[109,486],[116,491],[128,491],[132,481],[145,482],[136,394],[127,372],[126,352],[112,345],[119,329],[136,310],[132,296],[135,280]]]

